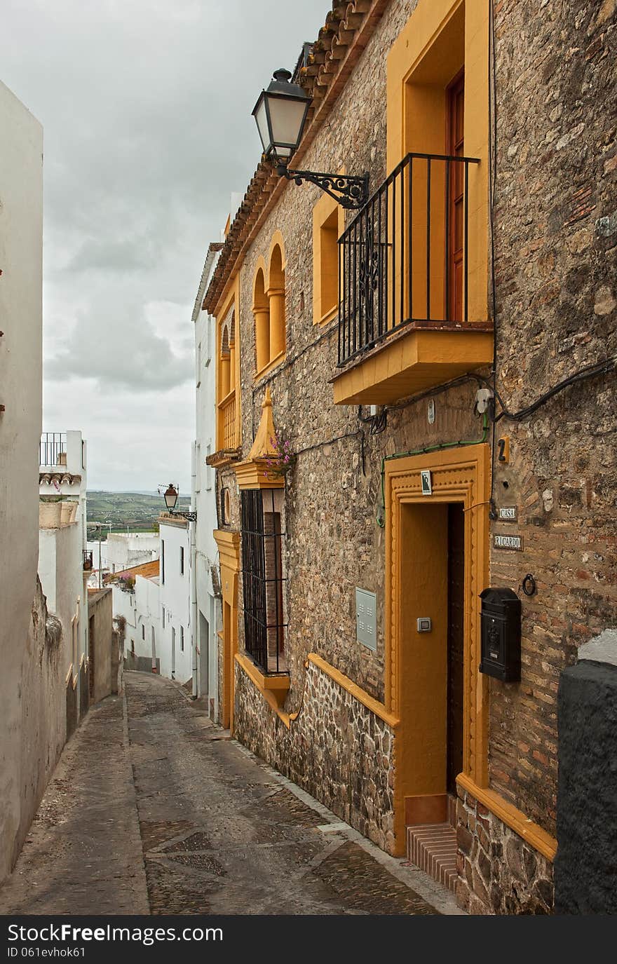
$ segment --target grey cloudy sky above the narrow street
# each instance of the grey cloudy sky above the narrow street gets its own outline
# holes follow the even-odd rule
[[[190,489],[191,313],[259,160],[251,117],[329,0],[2,0],[2,80],[44,129],[43,429],[89,488]]]

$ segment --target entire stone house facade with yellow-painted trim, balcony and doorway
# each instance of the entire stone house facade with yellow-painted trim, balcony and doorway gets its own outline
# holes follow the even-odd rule
[[[551,910],[559,675],[616,617],[614,31],[606,0],[335,2],[297,70],[312,100],[291,166],[367,172],[369,206],[324,206],[318,187],[262,160],[203,302],[217,318],[217,410],[233,412],[208,460],[221,720],[389,852],[405,852],[410,827],[449,820],[457,896],[472,913]],[[377,236],[379,210],[390,221]],[[366,211],[377,212],[370,227]],[[323,311],[333,230],[343,258],[353,245],[360,256],[341,262]],[[386,292],[384,330],[354,329],[351,352],[345,326],[369,317],[368,269]],[[349,285],[364,299],[354,316]],[[456,298],[449,308],[453,290],[465,316]],[[281,291],[284,347],[272,357],[259,333]],[[270,490],[282,533],[276,671],[255,659],[245,583],[259,555],[242,550],[246,494],[260,492],[265,513]],[[521,600],[520,682],[478,670],[487,586]],[[357,589],[374,594],[369,645]]]

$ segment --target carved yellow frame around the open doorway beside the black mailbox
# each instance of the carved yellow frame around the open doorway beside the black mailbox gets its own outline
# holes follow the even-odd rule
[[[421,469],[431,472],[432,495],[422,494]],[[403,853],[406,797],[445,792],[445,713],[439,708],[443,703],[445,710],[450,502],[463,503],[466,520],[463,772],[479,787],[488,785],[488,683],[478,671],[478,597],[489,578],[490,446],[391,460],[385,471],[386,707],[400,719],[394,743],[394,836],[395,852]],[[431,604],[433,632],[419,633],[416,615],[429,615],[419,609]]]

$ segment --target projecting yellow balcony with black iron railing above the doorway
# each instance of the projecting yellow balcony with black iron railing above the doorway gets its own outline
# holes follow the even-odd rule
[[[341,235],[335,404],[389,404],[492,362],[479,163],[408,154]]]

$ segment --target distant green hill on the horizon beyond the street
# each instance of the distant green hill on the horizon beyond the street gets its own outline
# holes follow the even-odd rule
[[[156,532],[157,519],[165,508],[162,495],[145,495],[137,492],[97,492],[87,494],[88,538],[98,539],[94,522],[102,522],[102,538],[112,532]],[[180,495],[178,509],[188,509],[191,500]]]

